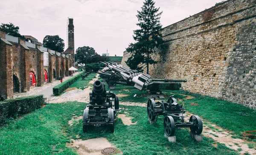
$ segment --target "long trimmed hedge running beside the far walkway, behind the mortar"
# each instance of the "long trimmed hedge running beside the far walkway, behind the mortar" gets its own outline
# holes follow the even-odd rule
[[[64,90],[66,90],[70,85],[72,85],[83,74],[84,74],[84,72],[81,72],[78,75],[74,76],[73,78],[70,78],[70,79],[64,81],[63,83],[53,87],[52,88],[53,94],[60,95]]]

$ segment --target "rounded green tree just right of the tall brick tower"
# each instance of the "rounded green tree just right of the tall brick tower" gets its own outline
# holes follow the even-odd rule
[[[86,65],[88,63],[87,60],[90,60],[90,57],[95,54],[95,49],[89,46],[83,46],[76,49],[75,59],[78,63],[84,63]]]

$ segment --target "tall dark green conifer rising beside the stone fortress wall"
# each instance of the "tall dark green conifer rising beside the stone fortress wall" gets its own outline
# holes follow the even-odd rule
[[[148,65],[156,63],[151,58],[151,54],[156,52],[163,46],[162,35],[160,31],[162,25],[160,24],[160,16],[163,12],[159,12],[160,8],[154,6],[153,0],[145,0],[144,5],[141,7],[142,11],[137,11],[136,15],[140,29],[134,30],[133,38],[136,43],[130,43],[127,52],[131,53],[131,57],[126,61],[131,69],[143,71]]]

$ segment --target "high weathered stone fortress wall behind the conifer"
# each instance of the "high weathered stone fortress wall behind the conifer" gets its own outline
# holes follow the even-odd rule
[[[162,34],[169,52],[152,56],[153,78],[186,79],[183,90],[256,109],[256,0],[227,0]]]

